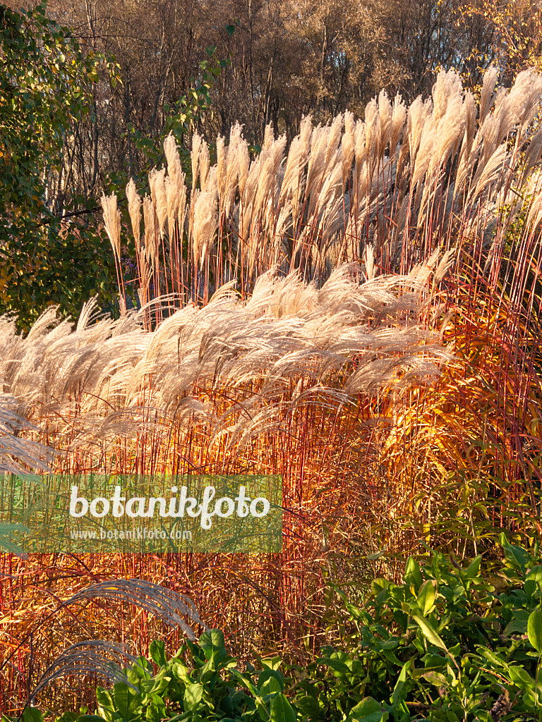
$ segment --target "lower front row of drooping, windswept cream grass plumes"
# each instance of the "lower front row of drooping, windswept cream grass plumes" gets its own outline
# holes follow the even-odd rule
[[[325,388],[327,374],[340,371],[352,357],[367,362],[379,359],[369,374],[371,384],[378,378],[384,385],[392,383],[397,362],[419,353],[436,362],[438,373],[439,351],[436,347],[435,356],[425,331],[414,325],[405,335],[400,327],[397,334],[387,328],[396,323],[395,313],[408,312],[405,318],[413,320],[419,300],[409,300],[405,292],[397,297],[395,289],[414,288],[416,279],[377,277],[358,286],[351,275],[357,273],[355,268],[333,271],[319,290],[305,284],[298,274],[284,279],[264,274],[245,305],[231,295],[229,284],[205,307],[178,310],[152,333],[142,328],[146,308],[120,321],[82,323],[75,331],[60,325],[61,332],[56,335],[56,329],[42,326],[33,347],[26,349],[36,368],[33,388],[25,386],[24,376],[4,376],[27,396],[38,417],[51,413],[51,421],[56,419],[53,424],[48,422],[50,432],[54,429],[59,438],[71,435],[72,448],[80,448],[87,441],[113,441],[116,435],[134,438],[145,427],[152,430],[153,425],[157,430],[160,425],[166,428],[171,414],[178,419],[180,409],[196,407],[197,417],[186,417],[183,412],[184,418],[212,427],[219,438],[220,425],[212,406],[199,406],[197,398],[198,385],[212,379],[224,388],[240,388],[254,380],[263,383],[262,393],[246,399],[248,409],[250,404],[262,404],[265,399],[271,404],[273,398],[283,396],[289,379],[298,374],[309,374],[311,383]],[[368,314],[379,319],[370,334],[363,325]],[[384,325],[379,328],[379,324]],[[19,344],[15,350],[21,356],[25,339]],[[371,355],[372,345],[376,350]],[[382,354],[388,357],[385,363]],[[7,370],[9,362],[4,358]],[[142,404],[141,394],[150,375],[152,404]],[[372,388],[367,386],[369,376],[359,376],[360,389],[364,384]],[[79,399],[75,417],[70,400],[74,392]],[[330,389],[330,393],[335,391]],[[244,407],[237,405],[233,410],[242,414]],[[279,412],[278,408],[280,416]]]

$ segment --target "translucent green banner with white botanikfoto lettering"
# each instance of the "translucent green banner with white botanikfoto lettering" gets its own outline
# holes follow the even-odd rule
[[[280,552],[282,478],[0,476],[0,550]]]

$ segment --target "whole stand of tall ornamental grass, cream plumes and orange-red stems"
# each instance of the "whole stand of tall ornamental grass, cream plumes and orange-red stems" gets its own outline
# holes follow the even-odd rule
[[[0,319],[26,440],[65,474],[281,475],[283,552],[4,556],[7,648],[51,594],[130,576],[190,596],[242,661],[280,647],[304,664],[329,641],[328,580],[397,584],[427,546],[463,562],[494,553],[501,528],[539,534],[541,89],[533,71],[499,89],[492,69],[477,105],[443,73],[408,108],[382,93],[363,120],[306,118],[288,149],[268,129],[251,157],[234,126],[213,163],[194,136],[189,186],[169,139],[150,196],[126,188],[134,277],[120,204],[103,198],[118,317],[90,302],[72,328],[48,310],[25,338]],[[131,653],[166,636],[129,606],[120,621],[107,611],[63,617],[39,662],[21,648],[1,703],[20,708],[28,668],[47,669],[61,635],[81,642],[82,625]]]

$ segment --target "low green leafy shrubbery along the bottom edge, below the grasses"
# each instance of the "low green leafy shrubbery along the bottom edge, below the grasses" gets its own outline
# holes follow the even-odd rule
[[[501,541],[504,562],[491,573],[481,572],[481,556],[461,567],[434,553],[421,565],[410,557],[402,584],[375,579],[362,606],[339,591],[342,639],[306,666],[259,658],[241,671],[220,630],[172,658],[155,641],[149,659],[98,690],[96,716],[60,720],[539,720],[542,558],[538,545],[528,552]],[[27,708],[23,720],[41,717]]]

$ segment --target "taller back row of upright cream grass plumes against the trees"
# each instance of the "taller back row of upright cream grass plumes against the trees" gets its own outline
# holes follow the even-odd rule
[[[494,154],[505,142],[503,133],[519,125],[521,130],[530,122],[541,83],[538,76],[527,72],[517,77],[510,92],[498,89],[494,93],[495,82],[494,70],[488,71],[478,123],[474,97],[463,91],[455,71],[439,74],[433,97],[417,98],[409,108],[399,96],[391,103],[382,92],[366,105],[364,121],[355,122],[347,112],[334,118],[330,126],[312,128],[310,118],[304,118],[285,162],[285,139],[275,139],[270,126],[265,129],[262,152],[252,162],[241,126],[232,126],[227,146],[224,139],[218,139],[217,163],[212,168],[207,144],[194,135],[188,227],[192,263],[196,264],[197,258],[199,269],[202,264],[210,264],[207,268],[219,264],[217,282],[225,269],[230,269],[228,274],[240,272],[244,286],[251,288],[255,274],[276,264],[278,258],[285,269],[298,267],[309,278],[320,277],[329,272],[331,258],[333,263],[359,261],[367,241],[374,243],[378,252],[385,247],[390,268],[405,254],[405,258],[420,258],[431,248],[425,230],[428,222],[447,238],[459,227],[460,218],[465,217],[465,224],[472,226],[469,217],[485,202],[484,191],[490,193],[489,205],[494,204],[499,187],[512,178],[513,167],[520,165],[520,157],[512,155],[512,166],[508,170],[503,167],[502,177],[494,178]],[[537,136],[523,165],[525,178],[538,162],[540,143],[542,136]],[[172,138],[166,145],[172,169],[165,179],[171,241],[176,212],[179,230],[184,225],[186,188],[177,206],[172,179],[181,178],[178,154]],[[342,187],[337,196],[338,165]],[[157,174],[153,178],[158,178]],[[332,193],[330,188],[334,188]],[[217,249],[220,259],[214,257],[213,243],[202,240],[202,227],[212,215],[208,209],[202,214],[202,201],[195,222],[199,192],[218,194],[220,238],[227,247],[226,251],[224,245]],[[165,216],[160,214],[157,193],[153,206],[155,222],[162,229]],[[291,212],[284,210],[289,207]],[[148,237],[152,235],[151,229]],[[147,252],[147,261],[152,262],[152,255]],[[181,267],[178,259],[178,269]],[[194,288],[203,278],[194,279]],[[205,282],[209,282],[207,271]]]

